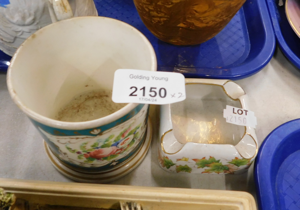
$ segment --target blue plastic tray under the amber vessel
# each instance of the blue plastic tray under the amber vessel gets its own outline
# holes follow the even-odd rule
[[[261,70],[274,53],[275,37],[264,0],[247,0],[217,36],[196,46],[158,40],[141,21],[132,0],[95,0],[95,4],[99,16],[122,20],[145,34],[155,49],[160,71],[181,72],[188,78],[236,80]]]

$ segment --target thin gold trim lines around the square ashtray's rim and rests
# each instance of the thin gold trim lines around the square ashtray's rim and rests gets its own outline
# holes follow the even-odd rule
[[[224,91],[224,93],[226,93],[226,95],[230,98],[230,99],[232,99],[232,100],[234,100],[234,101],[239,101],[240,102],[240,104],[241,104],[241,108],[243,108],[243,105],[242,105],[242,103],[241,103],[241,100],[239,99],[239,98],[237,98],[237,99],[233,99],[227,92],[226,92],[226,90],[225,90],[225,88],[224,88],[224,85],[227,83],[227,82],[234,82],[234,81],[231,81],[231,80],[227,80],[225,83],[223,83],[223,85],[220,85],[220,84],[211,84],[211,83],[197,83],[197,82],[190,82],[190,83],[185,83],[185,85],[188,85],[188,84],[208,84],[208,85],[216,85],[216,86],[220,86],[220,87],[222,87],[222,89],[223,89],[223,91]],[[235,84],[237,84],[236,82],[234,82]],[[238,85],[238,84],[237,84]],[[238,85],[239,86],[239,85]],[[241,86],[240,86],[241,87]],[[244,89],[241,87],[241,89],[244,91]],[[244,91],[244,95],[246,94],[246,92]],[[171,111],[171,109],[170,109],[170,111]],[[173,125],[172,125],[172,127],[173,127]],[[245,128],[245,132],[244,132],[244,135],[242,136],[242,138],[241,138],[241,140],[244,138],[244,136],[246,135],[246,134],[248,134],[246,131],[247,131],[247,127],[246,126],[244,126],[244,128]],[[173,129],[170,129],[170,130],[168,130],[168,131],[166,131],[166,132],[164,132],[164,134],[163,135],[161,135],[161,149],[163,150],[163,152],[165,153],[165,154],[167,154],[167,155],[173,155],[173,154],[176,154],[177,152],[179,152],[181,149],[179,149],[177,152],[174,152],[174,153],[168,153],[168,152],[166,152],[165,151],[165,149],[164,149],[164,145],[163,145],[163,140],[164,140],[164,136],[167,134],[167,133],[169,133],[169,132],[171,132],[171,131],[173,131]],[[250,135],[250,134],[249,134]],[[253,136],[252,135],[250,135],[251,136],[251,138],[253,138]],[[241,141],[240,140],[240,141]],[[254,142],[255,142],[255,144],[256,144],[256,152],[255,152],[255,155],[257,154],[257,151],[258,151],[258,146],[257,146],[257,143],[256,143],[256,140],[253,138],[253,140],[254,140]],[[176,141],[177,141],[177,139],[176,139]],[[178,141],[177,141],[178,142]],[[224,144],[224,145],[228,145],[228,144]],[[231,144],[229,144],[229,145],[231,145]],[[233,146],[233,145],[232,145]],[[236,148],[235,148],[236,149]],[[239,155],[241,155],[239,152],[238,152],[238,154]],[[255,155],[253,155],[253,157],[255,156]],[[242,155],[241,155],[241,157],[242,158],[244,158]],[[252,157],[252,158],[253,158]],[[245,158],[245,159],[252,159],[252,158]]]

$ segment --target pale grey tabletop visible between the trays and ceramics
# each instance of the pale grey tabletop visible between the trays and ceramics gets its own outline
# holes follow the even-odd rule
[[[261,143],[277,126],[300,118],[300,71],[276,49],[270,63],[257,74],[236,81],[249,96],[257,117]],[[158,106],[152,121],[158,122]],[[0,178],[72,182],[52,166],[43,140],[25,114],[10,99],[6,74],[0,74]],[[180,174],[160,168],[157,160],[158,123],[153,123],[151,148],[131,173],[109,184],[247,191],[255,196],[253,165],[240,175]]]

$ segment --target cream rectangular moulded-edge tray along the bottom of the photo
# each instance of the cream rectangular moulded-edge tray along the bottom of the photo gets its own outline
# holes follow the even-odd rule
[[[10,210],[119,210],[127,202],[143,210],[256,210],[253,196],[237,191],[16,179],[0,179],[0,188],[0,209]]]

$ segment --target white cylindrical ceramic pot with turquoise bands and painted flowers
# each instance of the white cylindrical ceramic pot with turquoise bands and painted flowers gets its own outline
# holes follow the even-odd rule
[[[145,157],[149,106],[129,103],[85,122],[59,121],[55,113],[78,94],[111,91],[117,69],[156,68],[152,45],[131,25],[74,17],[41,28],[17,49],[7,86],[44,138],[52,164],[76,181],[103,183],[126,175]]]

